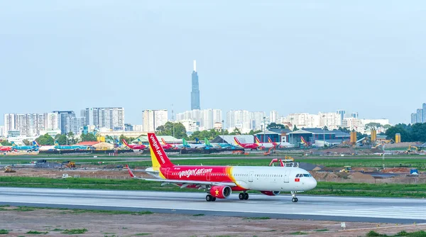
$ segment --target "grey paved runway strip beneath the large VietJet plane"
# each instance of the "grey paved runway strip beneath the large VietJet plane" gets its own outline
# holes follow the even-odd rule
[[[229,199],[206,202],[203,192],[142,192],[82,189],[0,187],[0,204],[49,206],[78,209],[155,211],[217,216],[268,216],[283,219],[426,223],[426,199],[299,196],[268,197],[251,194],[241,201]]]

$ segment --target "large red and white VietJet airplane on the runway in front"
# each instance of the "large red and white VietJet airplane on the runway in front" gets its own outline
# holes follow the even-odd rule
[[[143,172],[155,178],[136,177],[129,165],[126,165],[130,176],[140,180],[175,184],[181,188],[205,189],[207,202],[229,198],[232,191],[239,191],[239,199],[247,200],[248,190],[257,190],[268,196],[290,192],[292,202],[297,202],[297,192],[317,186],[314,177],[299,167],[174,165],[154,133],[148,133],[148,140],[153,167]]]

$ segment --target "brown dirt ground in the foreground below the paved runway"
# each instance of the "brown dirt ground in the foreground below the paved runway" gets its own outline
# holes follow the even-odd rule
[[[31,236],[28,231],[48,232],[43,236],[366,236],[368,231],[395,234],[425,230],[422,224],[398,225],[337,221],[246,219],[224,216],[180,214],[96,214],[61,209],[0,211],[0,229],[7,236]],[[86,228],[80,235],[62,231]],[[33,235],[34,236],[34,235]]]

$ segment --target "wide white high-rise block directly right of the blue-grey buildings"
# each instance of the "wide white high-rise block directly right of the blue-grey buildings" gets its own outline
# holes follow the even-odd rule
[[[109,128],[112,131],[124,131],[124,108],[86,108],[82,110],[84,126],[93,125],[97,128]]]

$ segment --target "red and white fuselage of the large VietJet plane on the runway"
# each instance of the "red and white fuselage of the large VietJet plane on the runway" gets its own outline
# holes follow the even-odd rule
[[[167,180],[192,180],[207,182],[234,182],[233,191],[307,191],[317,186],[317,181],[299,167],[261,166],[183,166],[161,167],[157,178]],[[302,177],[296,177],[305,175]]]

